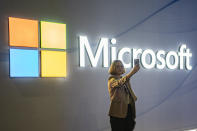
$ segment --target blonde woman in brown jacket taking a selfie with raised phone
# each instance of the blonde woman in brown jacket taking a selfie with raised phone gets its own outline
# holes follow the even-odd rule
[[[133,131],[135,128],[135,96],[130,85],[130,78],[140,69],[139,64],[124,77],[124,66],[120,60],[115,60],[110,68],[108,91],[110,95],[110,124],[112,131]]]

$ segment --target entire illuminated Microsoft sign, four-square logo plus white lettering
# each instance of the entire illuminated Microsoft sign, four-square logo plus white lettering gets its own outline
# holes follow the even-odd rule
[[[9,17],[9,45],[10,77],[67,76],[66,24]],[[131,68],[134,59],[140,58],[141,65],[146,69],[192,69],[192,53],[186,44],[180,45],[178,52],[155,52],[152,49],[128,47],[117,49],[116,39],[109,42],[109,38],[101,38],[93,53],[88,38],[80,36],[79,46],[80,67],[86,66],[86,54],[91,65],[96,67],[103,53],[103,67],[109,67],[109,61],[119,59],[125,68]],[[123,59],[126,54],[130,56],[129,62]]]

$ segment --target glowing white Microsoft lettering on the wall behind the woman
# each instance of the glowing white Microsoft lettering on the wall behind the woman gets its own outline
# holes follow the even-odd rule
[[[89,57],[90,63],[93,67],[96,67],[103,52],[103,66],[109,67],[109,39],[101,38],[96,53],[92,52],[90,47],[88,38],[86,36],[79,37],[79,45],[80,45],[80,67],[85,67],[85,51],[87,51],[87,55]],[[190,65],[190,58],[192,57],[192,53],[190,49],[186,47],[185,44],[182,44],[179,48],[179,51],[164,51],[158,50],[156,53],[152,49],[131,49],[131,48],[122,48],[117,53],[116,39],[111,40],[111,62],[115,59],[119,59],[123,62],[125,68],[131,68],[134,65],[134,59],[141,59],[141,64],[146,69],[164,69],[165,67],[169,69],[184,69],[191,70],[192,66]],[[129,54],[131,56],[131,61],[129,63],[124,62],[123,57],[125,54]],[[150,61],[147,62],[147,58],[150,58]]]

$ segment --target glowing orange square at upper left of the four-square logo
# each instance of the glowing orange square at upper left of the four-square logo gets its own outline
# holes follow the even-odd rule
[[[9,43],[38,48],[38,21],[9,17]]]

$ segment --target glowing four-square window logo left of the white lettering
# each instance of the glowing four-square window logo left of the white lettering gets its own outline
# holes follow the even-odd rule
[[[66,77],[66,24],[9,17],[10,77]]]

